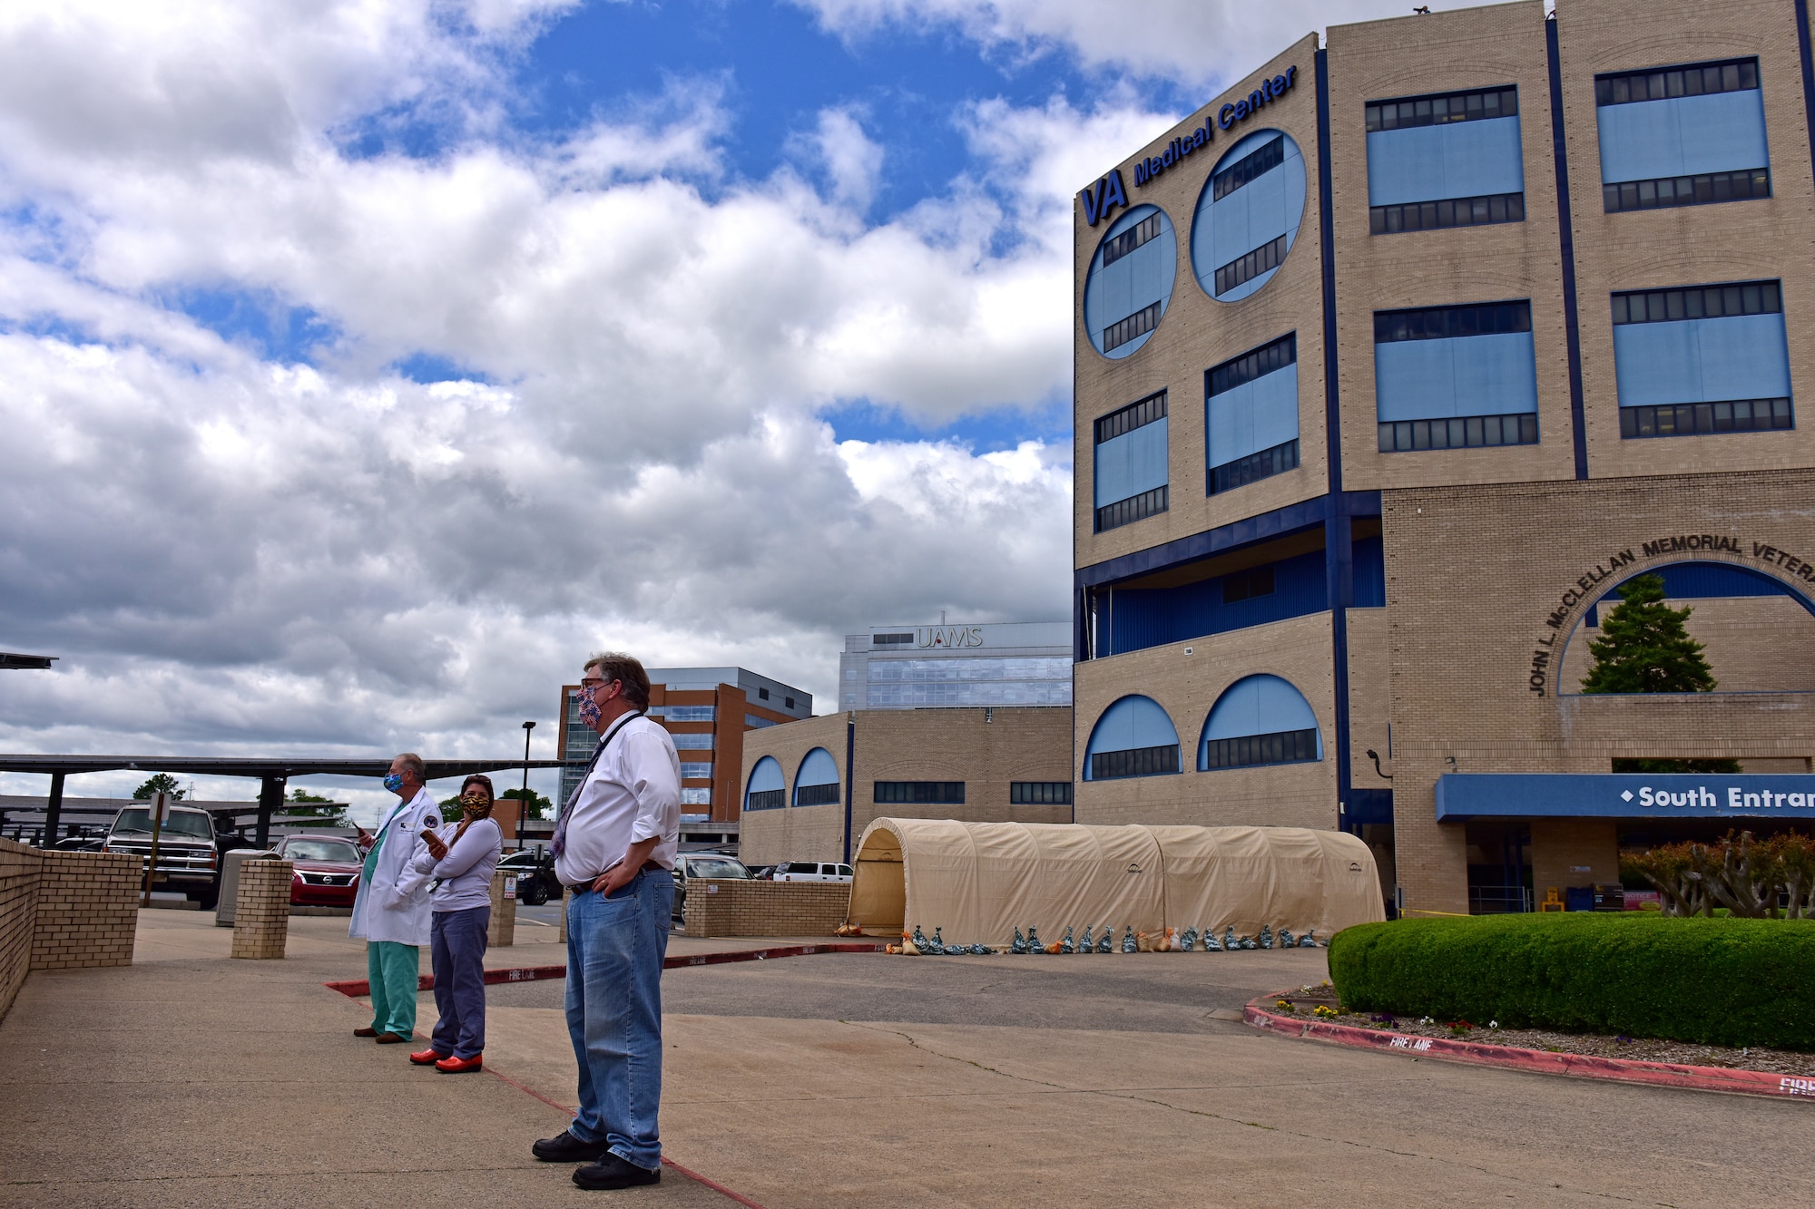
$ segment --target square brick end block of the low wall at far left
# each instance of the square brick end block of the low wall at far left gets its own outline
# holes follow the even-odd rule
[[[131,966],[143,862],[123,853],[45,851],[33,969]]]

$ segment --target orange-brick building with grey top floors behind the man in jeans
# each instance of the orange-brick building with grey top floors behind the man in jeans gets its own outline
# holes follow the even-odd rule
[[[681,810],[735,822],[744,735],[813,717],[813,693],[744,668],[648,668],[650,717],[675,737],[681,753]],[[599,735],[581,726],[579,684],[561,686],[561,797],[579,786]]]

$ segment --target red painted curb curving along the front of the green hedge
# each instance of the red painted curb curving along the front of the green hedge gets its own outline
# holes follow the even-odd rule
[[[1730,1071],[1719,1066],[1677,1066],[1673,1062],[1644,1062],[1639,1058],[1595,1058],[1581,1053],[1550,1053],[1548,1049],[1521,1049],[1517,1046],[1486,1046],[1481,1042],[1445,1040],[1441,1037],[1412,1037],[1392,1029],[1359,1029],[1352,1024],[1325,1024],[1303,1017],[1281,1017],[1267,1011],[1287,995],[1261,995],[1249,1000],[1241,1022],[1285,1037],[1336,1042],[1358,1049],[1410,1053],[1419,1058],[1497,1066],[1534,1075],[1574,1075],[1575,1078],[1610,1078],[1623,1084],[1652,1084],[1655,1087],[1690,1087],[1695,1091],[1728,1091],[1748,1096],[1815,1100],[1815,1078],[1771,1075],[1768,1071]]]

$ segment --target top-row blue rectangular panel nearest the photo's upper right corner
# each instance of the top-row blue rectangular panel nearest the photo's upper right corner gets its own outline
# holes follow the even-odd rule
[[[1770,167],[1764,93],[1601,105],[1601,183]]]

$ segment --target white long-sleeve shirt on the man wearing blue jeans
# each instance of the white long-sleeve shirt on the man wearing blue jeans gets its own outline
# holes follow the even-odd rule
[[[681,840],[681,757],[661,722],[624,722],[566,808],[555,877],[566,886],[597,879],[641,840],[659,837],[650,860],[675,868]]]

